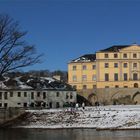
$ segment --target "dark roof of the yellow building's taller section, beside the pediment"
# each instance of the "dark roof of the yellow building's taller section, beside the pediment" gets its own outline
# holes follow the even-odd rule
[[[131,45],[114,45],[112,47],[100,50],[99,52],[118,52],[120,49],[127,48]]]

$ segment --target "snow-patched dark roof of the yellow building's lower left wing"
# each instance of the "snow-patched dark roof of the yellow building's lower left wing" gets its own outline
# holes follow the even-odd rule
[[[96,60],[96,54],[85,54],[82,55],[71,62],[93,62]]]

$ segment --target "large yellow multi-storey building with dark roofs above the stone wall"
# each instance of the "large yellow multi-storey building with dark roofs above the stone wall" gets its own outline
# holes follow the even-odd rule
[[[140,46],[112,46],[72,60],[68,83],[77,90],[140,87]]]

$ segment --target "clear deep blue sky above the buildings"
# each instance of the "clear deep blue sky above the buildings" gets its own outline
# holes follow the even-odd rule
[[[140,0],[0,0],[0,13],[19,21],[44,53],[42,64],[24,70],[67,70],[83,54],[140,44]]]

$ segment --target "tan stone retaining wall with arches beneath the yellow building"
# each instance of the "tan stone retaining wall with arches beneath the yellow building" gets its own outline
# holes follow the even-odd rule
[[[93,105],[101,104],[140,104],[140,88],[101,88],[81,90],[78,93],[87,98]]]

